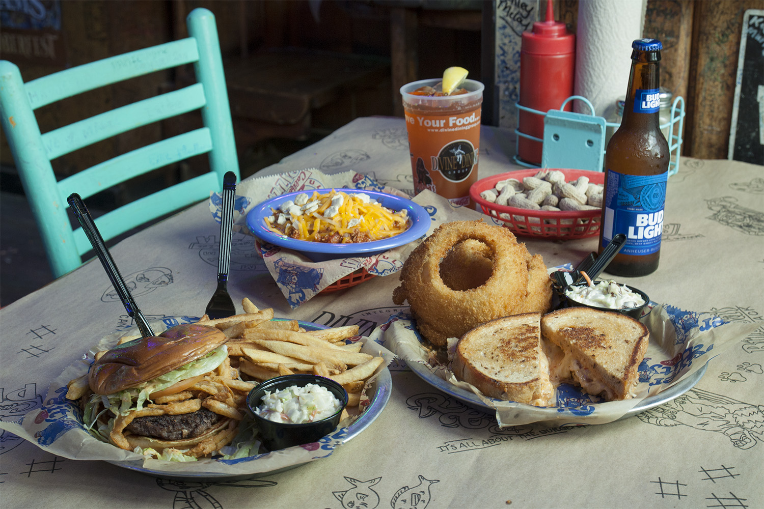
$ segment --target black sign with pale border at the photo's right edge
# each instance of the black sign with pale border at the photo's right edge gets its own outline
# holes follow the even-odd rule
[[[764,11],[743,16],[727,159],[764,165]]]

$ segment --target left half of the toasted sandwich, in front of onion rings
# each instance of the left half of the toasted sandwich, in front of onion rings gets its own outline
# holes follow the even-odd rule
[[[469,330],[456,346],[456,378],[491,398],[546,406],[553,388],[540,320],[540,313],[516,314]]]

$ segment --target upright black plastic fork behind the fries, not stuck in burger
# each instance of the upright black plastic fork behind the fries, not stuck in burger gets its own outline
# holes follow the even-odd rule
[[[220,211],[220,253],[218,256],[218,288],[207,304],[205,313],[211,319],[236,314],[234,301],[228,295],[228,269],[231,266],[231,235],[234,222],[236,174],[227,172],[223,177],[222,207]]]

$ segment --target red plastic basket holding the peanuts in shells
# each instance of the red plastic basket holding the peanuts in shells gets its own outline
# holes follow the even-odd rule
[[[586,169],[558,169],[558,171],[565,175],[565,182],[578,179],[580,176],[588,177],[589,182],[593,184],[605,182],[605,176],[602,172],[592,172]],[[481,192],[493,189],[500,180],[518,179],[522,182],[523,178],[532,177],[538,172],[538,168],[519,169],[480,179],[471,185],[470,196],[475,203],[480,205],[484,214],[494,217],[497,221],[502,221],[504,226],[516,235],[565,240],[599,235],[602,212],[598,210],[534,211],[527,208],[496,205],[481,198]],[[500,217],[499,214],[509,215]]]

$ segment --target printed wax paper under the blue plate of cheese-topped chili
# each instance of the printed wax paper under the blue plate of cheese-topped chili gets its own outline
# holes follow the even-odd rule
[[[236,187],[234,230],[251,235],[246,224],[249,211],[263,201],[294,191],[314,189],[356,188],[384,192],[410,198],[396,188],[380,185],[369,176],[348,171],[331,175],[318,169],[301,169],[280,175],[249,179]],[[418,200],[414,200],[419,202]],[[222,198],[213,193],[209,209],[215,221],[220,222]],[[420,204],[421,205],[421,204]],[[324,288],[358,269],[366,269],[371,275],[390,275],[403,267],[403,260],[413,250],[412,244],[396,247],[374,256],[331,259],[313,262],[307,256],[280,246],[263,243],[261,256],[292,309],[318,295]]]

